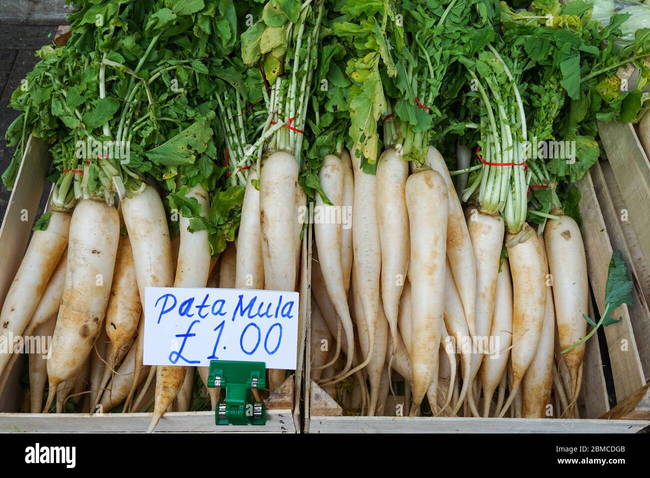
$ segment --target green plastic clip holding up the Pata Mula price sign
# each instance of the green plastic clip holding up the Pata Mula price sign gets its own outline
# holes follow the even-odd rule
[[[226,389],[226,401],[214,412],[216,425],[266,425],[266,406],[252,394],[266,388],[265,362],[211,360],[207,386]]]

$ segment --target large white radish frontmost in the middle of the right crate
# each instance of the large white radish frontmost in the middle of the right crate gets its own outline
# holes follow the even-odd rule
[[[411,283],[413,407],[410,416],[415,416],[437,374],[445,292],[447,196],[445,179],[433,170],[416,171],[406,181],[411,239],[408,279]],[[355,254],[355,262],[356,258]]]

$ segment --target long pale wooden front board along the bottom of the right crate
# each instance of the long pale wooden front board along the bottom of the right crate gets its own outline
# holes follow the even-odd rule
[[[641,420],[312,417],[310,433],[636,433]]]

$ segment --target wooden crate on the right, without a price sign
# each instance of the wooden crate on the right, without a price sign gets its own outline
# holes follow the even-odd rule
[[[650,163],[630,124],[601,124],[608,161],[594,165],[576,186],[587,257],[591,302],[604,312],[612,251],[619,249],[632,287],[630,306],[614,311],[621,322],[604,327],[586,345],[580,419],[357,417],[343,409],[311,378],[309,327],[305,354],[305,432],[494,432],[636,433],[650,431]],[[590,310],[593,317],[593,310]],[[603,341],[604,338],[604,341]],[[600,343],[603,341],[604,343]],[[603,356],[601,356],[603,351]],[[606,355],[605,355],[606,353]],[[603,364],[608,364],[604,367]],[[608,377],[605,377],[605,373]],[[399,401],[400,397],[396,397]],[[616,406],[610,409],[610,399]],[[395,408],[391,397],[386,410]]]

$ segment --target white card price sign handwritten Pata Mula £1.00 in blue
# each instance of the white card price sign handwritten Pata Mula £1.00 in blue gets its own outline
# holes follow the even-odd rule
[[[147,287],[144,299],[144,365],[296,369],[297,292]]]

